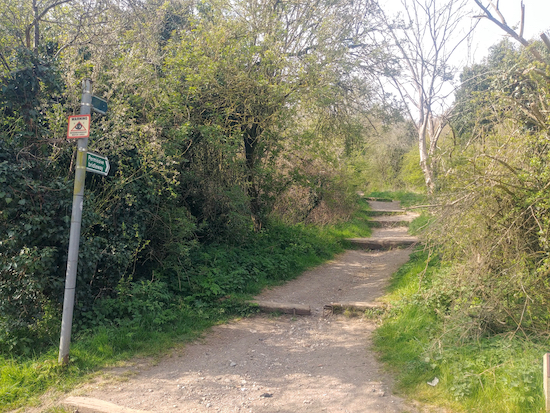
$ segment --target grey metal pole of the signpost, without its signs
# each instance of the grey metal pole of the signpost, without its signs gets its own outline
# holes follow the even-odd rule
[[[92,81],[82,82],[81,115],[89,115],[92,108]],[[58,362],[69,363],[69,347],[71,344],[71,329],[73,325],[73,309],[76,287],[76,268],[78,265],[78,246],[80,243],[80,225],[82,222],[82,207],[84,202],[84,183],[86,180],[86,153],[88,138],[77,139],[78,152],[74,177],[73,211],[71,215],[71,230],[69,235],[69,256],[65,278],[65,297],[63,300],[63,318],[61,320],[61,338],[59,340]]]

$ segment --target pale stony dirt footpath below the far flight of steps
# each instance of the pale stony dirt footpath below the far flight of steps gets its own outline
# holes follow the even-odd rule
[[[323,314],[331,302],[374,302],[410,249],[347,251],[259,298],[310,305],[212,328],[157,364],[108,371],[73,392],[150,412],[417,412],[392,394],[370,349],[368,319]]]

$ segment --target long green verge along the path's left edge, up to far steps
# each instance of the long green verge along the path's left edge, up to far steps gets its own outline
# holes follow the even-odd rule
[[[245,302],[262,288],[331,259],[344,250],[344,238],[368,236],[367,209],[368,204],[360,201],[347,223],[323,228],[273,224],[242,245],[202,246],[191,256],[193,275],[203,277],[204,283],[197,282],[194,295],[178,297],[162,284],[136,283],[127,295],[134,294],[130,304],[118,310],[129,319],[94,324],[92,317],[87,325],[75,322],[81,327],[75,327],[66,368],[57,363],[59,335],[53,331],[57,327],[50,332],[49,346],[34,353],[0,355],[0,412],[37,405],[48,391],[68,391],[102,368],[134,357],[161,356],[212,325],[254,312]],[[223,300],[216,298],[224,294]],[[116,300],[108,305],[118,308]]]

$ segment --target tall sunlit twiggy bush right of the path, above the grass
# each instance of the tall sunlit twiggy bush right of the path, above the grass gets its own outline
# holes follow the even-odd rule
[[[503,42],[465,70],[456,156],[440,174],[443,207],[429,236],[456,263],[440,283],[449,316],[474,336],[550,331],[550,124],[539,116],[550,69],[531,65]]]

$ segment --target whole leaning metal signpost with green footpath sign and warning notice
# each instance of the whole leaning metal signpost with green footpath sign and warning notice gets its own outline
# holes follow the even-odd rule
[[[73,325],[73,309],[76,288],[76,268],[78,265],[78,247],[80,244],[80,226],[82,224],[82,209],[84,206],[84,183],[86,170],[107,175],[109,161],[107,158],[88,152],[88,137],[90,136],[92,106],[92,81],[82,82],[82,100],[80,115],[69,116],[67,129],[68,139],[77,139],[76,168],[74,177],[73,210],[71,214],[71,229],[69,235],[69,254],[65,278],[65,297],[63,300],[63,317],[61,320],[61,338],[59,340],[59,363],[69,363],[69,347],[71,344],[71,330]],[[98,98],[99,99],[99,98]],[[105,114],[107,102],[104,103]],[[99,104],[99,102],[98,102]],[[103,106],[102,106],[103,107]]]

